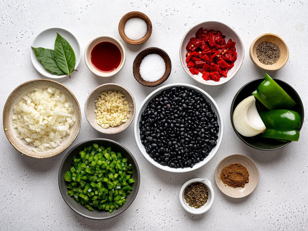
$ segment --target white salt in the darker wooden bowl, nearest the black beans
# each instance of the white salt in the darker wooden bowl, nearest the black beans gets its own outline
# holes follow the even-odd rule
[[[145,56],[139,68],[141,78],[148,82],[155,82],[163,77],[166,71],[164,59],[158,54],[149,54]]]

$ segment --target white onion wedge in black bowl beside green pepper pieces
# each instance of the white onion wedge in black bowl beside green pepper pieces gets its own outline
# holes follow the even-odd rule
[[[253,95],[243,99],[233,112],[233,124],[243,136],[256,136],[265,130],[265,125],[256,108]]]

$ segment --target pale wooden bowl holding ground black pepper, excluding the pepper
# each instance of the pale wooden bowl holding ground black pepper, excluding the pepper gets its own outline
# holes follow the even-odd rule
[[[255,57],[253,55],[253,47],[255,45],[255,43],[257,42],[258,39],[262,38],[262,37],[265,37],[265,36],[274,36],[274,37],[277,37],[278,39],[280,39],[282,41],[282,43],[286,46],[286,59],[280,64],[280,65],[275,65],[276,63],[272,64],[272,65],[265,65],[265,64],[262,64],[259,59],[257,57]],[[277,45],[277,44],[276,44]],[[250,56],[250,59],[251,61],[257,65],[257,67],[261,68],[262,70],[266,70],[266,71],[277,71],[279,69],[281,69],[284,65],[286,65],[286,63],[288,62],[288,59],[289,59],[289,48],[287,46],[287,44],[285,43],[285,41],[279,37],[277,34],[273,34],[273,33],[265,33],[265,34],[261,34],[259,35],[256,39],[253,40],[253,42],[251,43],[250,47],[249,47],[249,56]],[[268,68],[265,68],[265,67],[268,67]]]

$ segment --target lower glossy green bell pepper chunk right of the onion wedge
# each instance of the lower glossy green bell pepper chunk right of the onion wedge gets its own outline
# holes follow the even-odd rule
[[[283,142],[298,141],[301,116],[286,109],[261,111],[259,115],[265,124],[265,131],[258,136],[274,138]]]

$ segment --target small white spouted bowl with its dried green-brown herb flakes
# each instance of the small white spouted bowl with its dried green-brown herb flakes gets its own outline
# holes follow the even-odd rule
[[[188,213],[207,212],[214,202],[214,190],[211,182],[204,178],[188,180],[180,189],[180,203]]]

